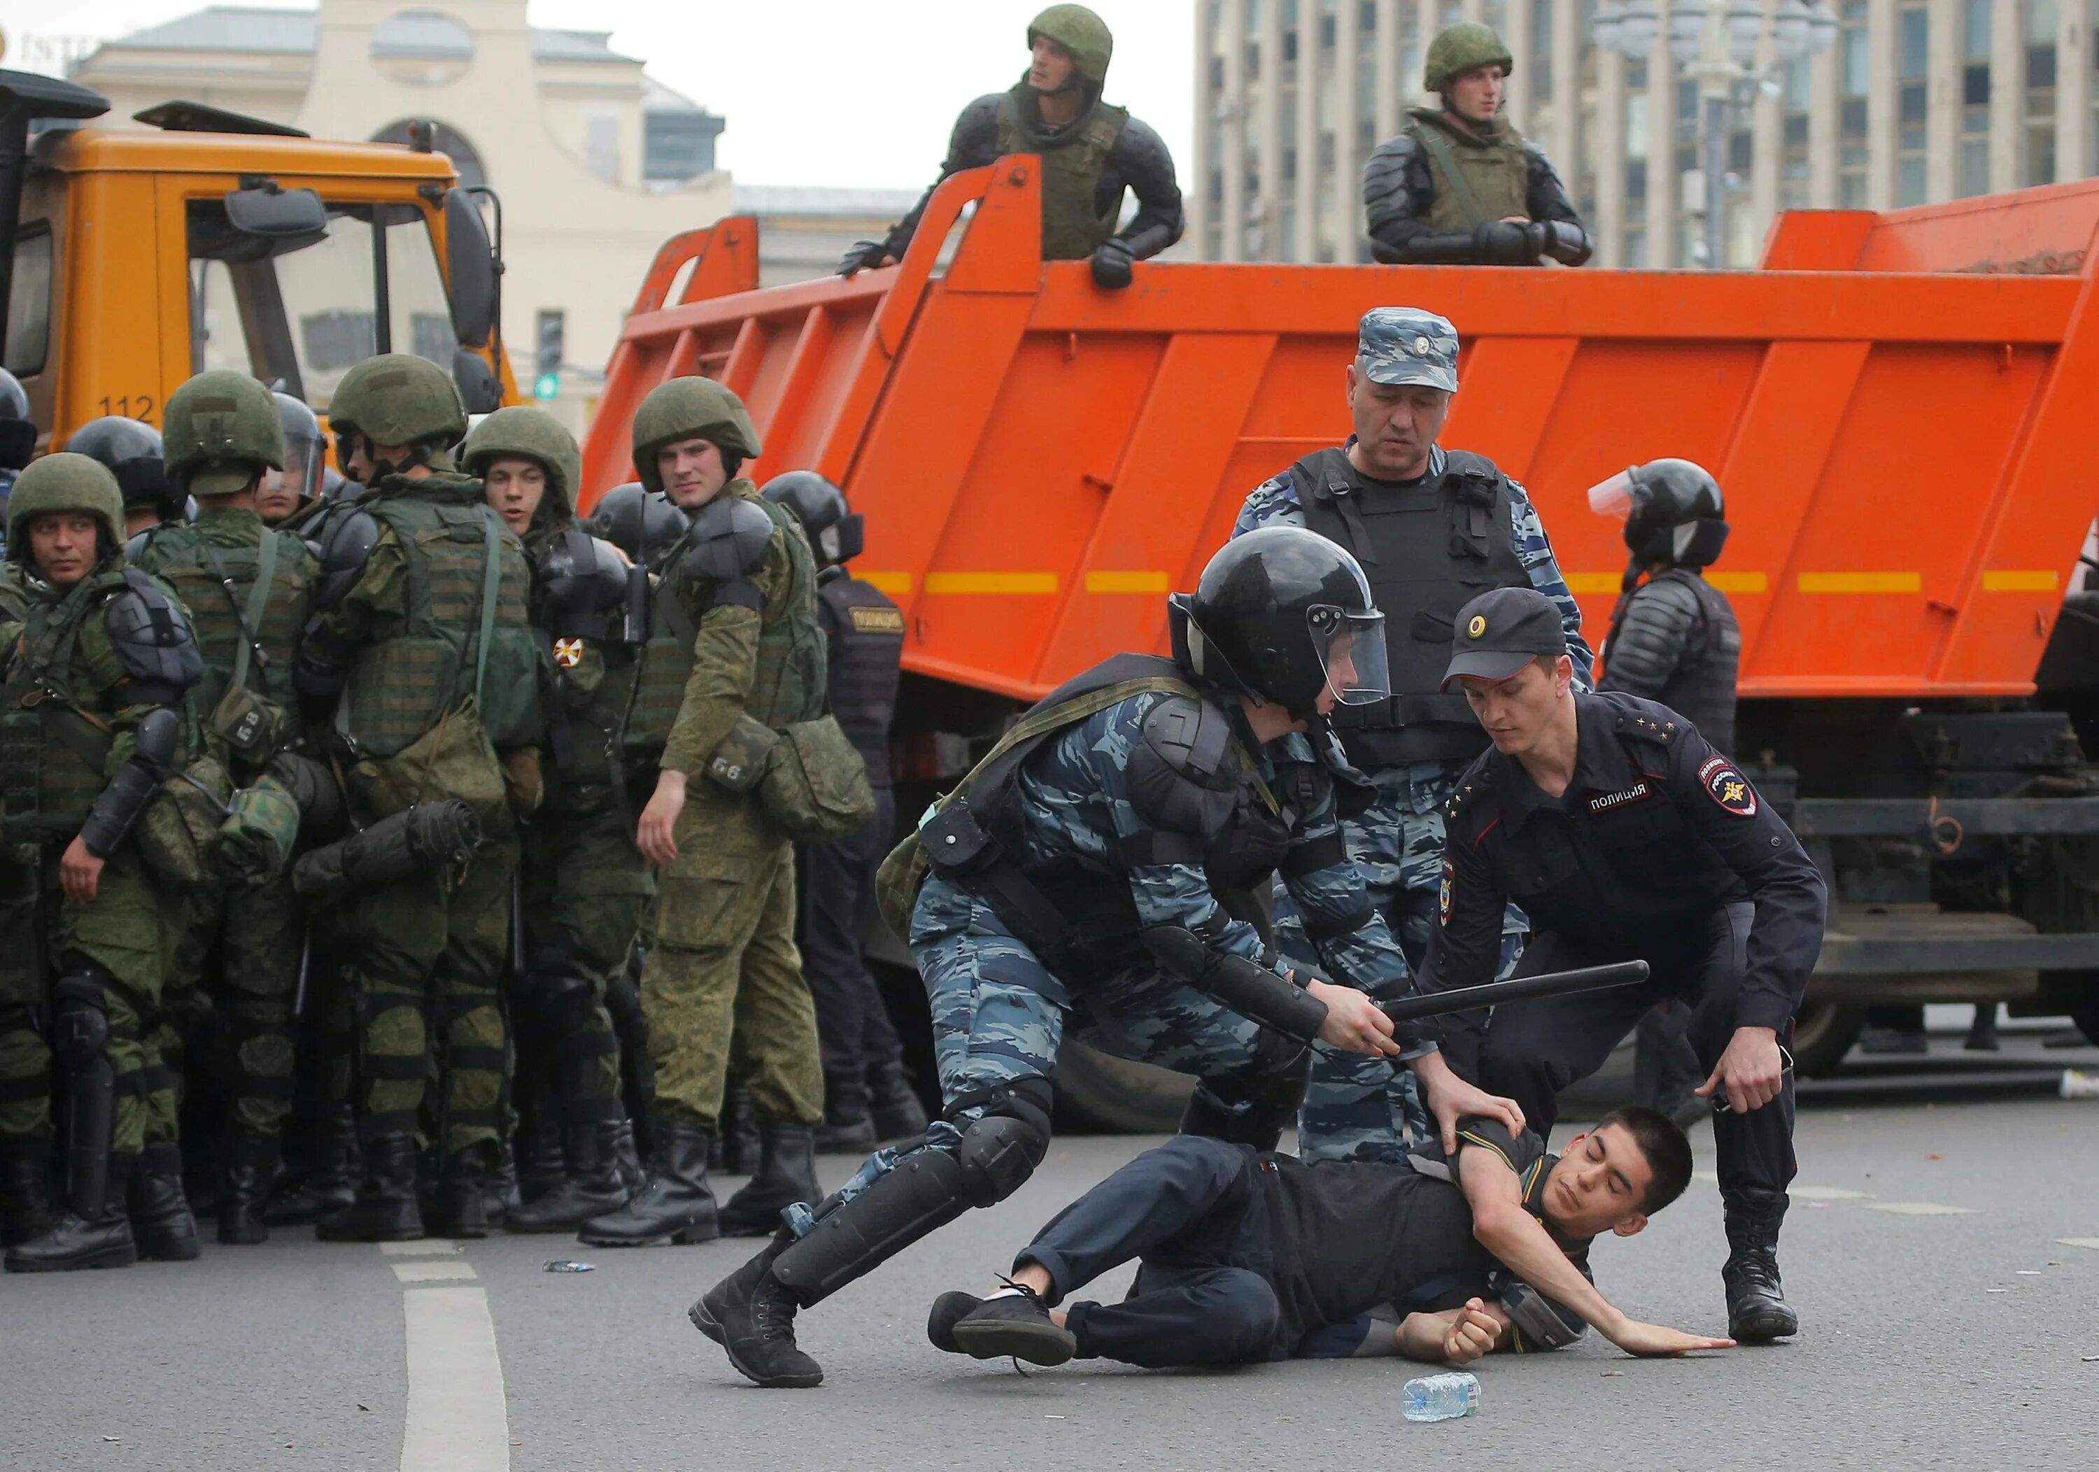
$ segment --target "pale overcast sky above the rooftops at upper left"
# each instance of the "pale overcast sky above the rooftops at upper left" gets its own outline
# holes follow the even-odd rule
[[[909,189],[932,181],[961,105],[1012,86],[1026,69],[1029,17],[1043,4],[531,0],[531,21],[611,27],[615,50],[640,57],[665,86],[728,120],[720,162],[747,185]],[[0,0],[8,42],[0,65],[36,65],[59,38],[124,36],[202,8],[193,0]],[[401,8],[445,4],[401,0]],[[1115,29],[1108,101],[1165,134],[1186,170],[1194,2],[1098,0],[1096,8]]]

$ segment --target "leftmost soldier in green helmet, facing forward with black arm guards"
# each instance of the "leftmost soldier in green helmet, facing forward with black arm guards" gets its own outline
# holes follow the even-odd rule
[[[10,1273],[124,1266],[126,1182],[145,1144],[147,1033],[166,981],[168,897],[139,827],[185,762],[183,703],[204,659],[181,601],[124,567],[124,496],[97,460],[57,454],[8,502],[27,590],[0,626],[0,1157]],[[38,1031],[34,1016],[46,1018]],[[38,1199],[48,1077],[65,1084],[65,1205]],[[181,1180],[172,1182],[174,1205]],[[195,1228],[187,1237],[195,1256]]]

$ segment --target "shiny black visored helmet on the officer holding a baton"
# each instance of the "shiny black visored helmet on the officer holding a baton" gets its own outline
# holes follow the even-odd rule
[[[1343,706],[1392,695],[1385,615],[1362,567],[1303,527],[1261,527],[1209,559],[1192,594],[1167,598],[1173,659],[1234,695],[1318,716],[1333,691]]]

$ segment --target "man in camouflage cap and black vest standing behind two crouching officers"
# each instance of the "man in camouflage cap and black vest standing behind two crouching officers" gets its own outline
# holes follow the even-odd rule
[[[1486,456],[1436,443],[1457,393],[1457,330],[1436,313],[1364,313],[1348,365],[1348,443],[1255,487],[1232,529],[1236,538],[1272,525],[1312,527],[1350,548],[1392,628],[1392,695],[1333,714],[1348,760],[1377,787],[1364,811],[1343,819],[1348,850],[1406,958],[1381,1000],[1406,991],[1427,951],[1442,808],[1486,745],[1463,697],[1440,689],[1459,605],[1482,588],[1536,588],[1560,611],[1576,680],[1589,680],[1591,664],[1581,609],[1530,496]],[[1276,905],[1276,930],[1291,955],[1316,958],[1320,937],[1287,897]],[[1509,911],[1503,970],[1515,964],[1522,934],[1524,918]],[[1314,1050],[1297,1138],[1306,1159],[1396,1163],[1421,1132],[1408,1073]]]

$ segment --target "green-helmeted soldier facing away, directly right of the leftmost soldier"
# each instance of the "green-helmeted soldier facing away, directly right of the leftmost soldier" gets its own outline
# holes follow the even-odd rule
[[[269,388],[246,374],[197,374],[168,397],[162,424],[168,479],[197,500],[197,519],[162,525],[134,565],[166,580],[191,611],[204,653],[193,708],[204,743],[235,787],[250,787],[285,752],[304,745],[292,666],[319,563],[290,531],[256,510],[285,468],[281,416]],[[290,874],[262,882],[222,876],[187,901],[174,974],[212,993],[231,1075],[231,1134],[222,1142],[218,1241],[269,1237],[262,1205],[277,1140],[292,1109],[292,1004],[302,920]],[[208,966],[216,958],[216,966]]]

